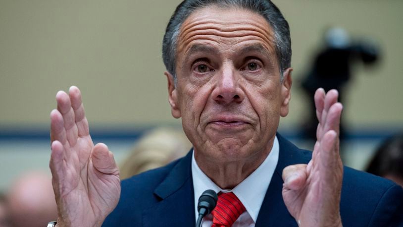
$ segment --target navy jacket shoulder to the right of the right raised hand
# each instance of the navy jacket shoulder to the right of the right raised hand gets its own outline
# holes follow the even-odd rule
[[[388,179],[345,167],[340,214],[345,226],[403,226],[403,189]]]

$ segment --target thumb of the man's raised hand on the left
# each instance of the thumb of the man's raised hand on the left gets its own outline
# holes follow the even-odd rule
[[[98,143],[94,146],[91,153],[93,166],[98,171],[105,174],[119,174],[113,153],[109,151],[108,147],[104,143]]]

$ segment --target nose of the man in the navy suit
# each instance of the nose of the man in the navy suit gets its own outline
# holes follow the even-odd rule
[[[225,67],[217,76],[217,84],[212,93],[213,99],[220,104],[241,103],[245,93],[240,87],[235,69]]]

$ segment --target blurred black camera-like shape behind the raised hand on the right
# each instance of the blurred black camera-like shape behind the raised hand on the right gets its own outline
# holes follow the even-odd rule
[[[302,75],[302,89],[309,96],[309,115],[302,125],[302,136],[312,142],[316,141],[316,108],[313,97],[318,88],[326,92],[339,91],[339,102],[345,104],[346,87],[354,75],[354,65],[364,63],[374,65],[380,58],[380,47],[370,37],[353,40],[353,37],[341,27],[326,29],[324,44],[315,53],[312,65]],[[345,139],[345,126],[340,123],[340,140]]]

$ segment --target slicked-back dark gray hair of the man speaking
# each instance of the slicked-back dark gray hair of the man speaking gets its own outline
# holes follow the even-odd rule
[[[280,75],[283,79],[283,71],[291,67],[291,38],[288,22],[280,10],[270,0],[184,0],[177,7],[165,30],[162,43],[162,58],[166,70],[174,76],[176,83],[176,52],[180,28],[186,18],[195,10],[210,5],[220,7],[239,7],[252,10],[263,16],[274,31],[276,55],[280,64]]]

